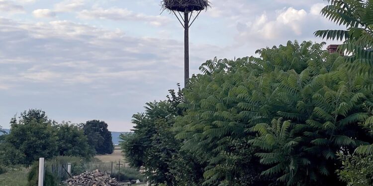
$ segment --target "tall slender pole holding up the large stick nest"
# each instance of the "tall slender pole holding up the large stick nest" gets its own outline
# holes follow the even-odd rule
[[[189,79],[189,12],[184,12],[184,87]]]

